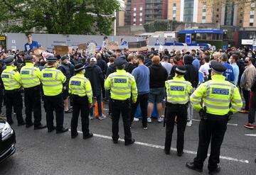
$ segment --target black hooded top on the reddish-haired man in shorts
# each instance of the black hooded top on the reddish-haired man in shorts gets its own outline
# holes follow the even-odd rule
[[[161,64],[152,64],[149,67],[149,88],[163,88],[168,73]]]

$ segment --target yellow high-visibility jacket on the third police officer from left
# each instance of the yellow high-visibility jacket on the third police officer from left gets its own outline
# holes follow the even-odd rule
[[[65,75],[55,67],[47,67],[41,72],[41,82],[43,84],[43,94],[46,96],[57,96],[63,90]]]

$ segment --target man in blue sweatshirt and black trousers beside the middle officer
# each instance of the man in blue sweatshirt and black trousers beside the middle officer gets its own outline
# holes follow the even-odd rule
[[[147,103],[149,98],[149,68],[146,67],[144,63],[144,55],[137,55],[135,62],[138,64],[138,67],[133,69],[132,75],[135,78],[138,97],[137,102],[132,104],[132,118],[131,122],[134,120],[134,114],[137,110],[137,106],[140,104],[142,110],[142,125],[144,130],[147,129]]]

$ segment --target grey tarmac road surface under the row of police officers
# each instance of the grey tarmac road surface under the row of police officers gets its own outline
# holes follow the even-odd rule
[[[105,105],[105,108],[107,106]],[[42,110],[43,121],[46,113]],[[105,110],[105,113],[107,111]],[[198,114],[194,112],[194,118]],[[65,126],[70,128],[71,114],[65,114]],[[247,115],[236,113],[221,149],[219,174],[255,174],[256,130],[243,127]],[[95,134],[89,140],[82,140],[82,134],[71,139],[70,132],[56,135],[47,130],[33,130],[25,126],[13,125],[16,131],[16,153],[0,164],[1,175],[20,174],[208,174],[207,162],[203,173],[186,168],[193,160],[198,146],[198,121],[186,128],[185,153],[178,157],[175,151],[164,154],[165,128],[163,123],[153,120],[148,130],[143,130],[141,120],[132,125],[134,145],[124,146],[124,142],[114,145],[111,140],[111,119],[90,120],[90,130]],[[124,137],[122,121],[119,135]],[[78,130],[81,130],[79,123]],[[252,136],[245,136],[250,134]],[[255,135],[255,136],[253,136]],[[176,129],[172,147],[176,147]]]

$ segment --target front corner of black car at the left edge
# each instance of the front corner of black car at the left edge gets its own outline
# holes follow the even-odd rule
[[[9,123],[0,118],[0,163],[16,151],[16,137],[14,129]]]

